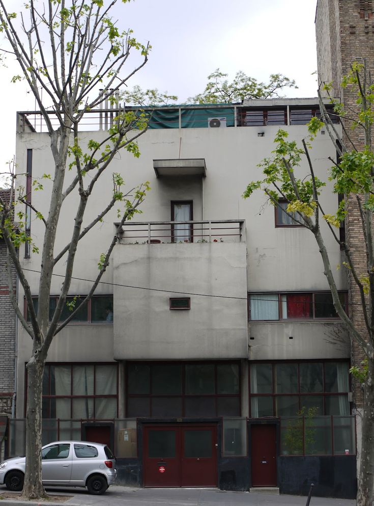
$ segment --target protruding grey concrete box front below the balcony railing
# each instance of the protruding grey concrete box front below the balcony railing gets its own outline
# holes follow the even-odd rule
[[[144,288],[114,286],[116,360],[247,358],[244,243],[119,245],[113,265]],[[178,296],[191,309],[170,310]]]

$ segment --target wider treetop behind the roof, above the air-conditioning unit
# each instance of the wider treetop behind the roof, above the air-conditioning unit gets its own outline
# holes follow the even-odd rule
[[[280,98],[283,88],[297,88],[293,79],[282,74],[271,74],[268,83],[258,82],[241,70],[229,82],[225,74],[217,68],[208,75],[208,83],[203,93],[188,99],[191,103],[233,103],[251,98]]]

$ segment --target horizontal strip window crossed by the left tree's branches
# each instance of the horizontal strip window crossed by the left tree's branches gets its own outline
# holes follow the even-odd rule
[[[80,306],[82,301],[85,299],[85,295],[77,297],[67,297],[65,307],[61,313],[60,322],[64,322],[68,318],[71,312]],[[49,320],[52,319],[54,311],[57,306],[59,297],[50,297],[49,299]],[[38,297],[33,297],[34,309],[38,312]],[[26,319],[30,322],[30,316],[27,312],[27,306],[25,302],[24,314]],[[95,295],[87,304],[85,304],[71,319],[71,323],[113,323],[113,296],[112,295]]]

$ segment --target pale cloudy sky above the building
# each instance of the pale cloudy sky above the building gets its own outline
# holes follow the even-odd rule
[[[316,96],[317,70],[314,16],[317,0],[135,0],[116,6],[113,16],[124,29],[134,30],[142,43],[150,41],[149,61],[129,82],[129,88],[158,88],[183,103],[204,90],[216,68],[233,78],[239,70],[267,81],[271,73],[295,79],[298,89],[287,97]],[[20,12],[23,0],[5,0]],[[4,40],[0,38],[0,48]],[[15,153],[16,111],[35,110],[24,83],[11,83],[19,73],[7,58],[0,67],[0,173]],[[1,183],[1,179],[0,179]]]

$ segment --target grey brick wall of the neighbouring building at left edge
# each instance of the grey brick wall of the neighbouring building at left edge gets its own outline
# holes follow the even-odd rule
[[[6,247],[0,241],[0,413],[11,413],[14,388],[15,314],[9,300]],[[13,270],[13,285],[16,276]]]

